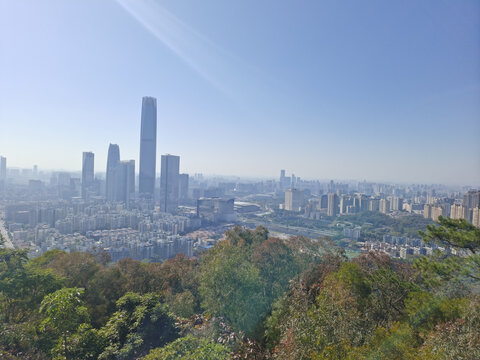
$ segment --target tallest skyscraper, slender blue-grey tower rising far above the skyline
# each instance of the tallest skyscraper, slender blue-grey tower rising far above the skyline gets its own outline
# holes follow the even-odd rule
[[[155,163],[157,153],[157,99],[142,99],[142,124],[140,129],[140,194],[153,197],[155,190]]]

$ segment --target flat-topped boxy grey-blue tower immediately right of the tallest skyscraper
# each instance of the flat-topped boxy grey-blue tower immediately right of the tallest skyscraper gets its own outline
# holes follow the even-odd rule
[[[178,207],[180,157],[162,155],[160,172],[160,211],[174,213]]]

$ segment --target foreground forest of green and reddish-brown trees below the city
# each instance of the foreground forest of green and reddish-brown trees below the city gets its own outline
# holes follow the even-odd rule
[[[348,259],[328,239],[235,227],[162,263],[0,249],[3,359],[480,359],[480,229],[452,250]]]

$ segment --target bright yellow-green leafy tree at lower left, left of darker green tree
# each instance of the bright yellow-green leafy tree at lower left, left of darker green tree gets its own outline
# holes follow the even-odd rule
[[[72,359],[69,352],[69,337],[74,334],[80,324],[87,323],[87,308],[82,306],[83,289],[63,288],[45,296],[40,312],[46,315],[41,330],[51,329],[58,336],[57,349],[61,349],[65,359]]]

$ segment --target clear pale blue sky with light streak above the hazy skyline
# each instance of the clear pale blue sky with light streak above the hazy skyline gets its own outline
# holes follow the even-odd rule
[[[478,0],[0,0],[0,155],[105,171],[480,184]]]

